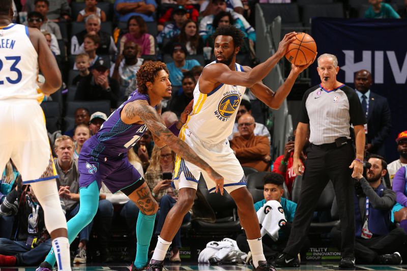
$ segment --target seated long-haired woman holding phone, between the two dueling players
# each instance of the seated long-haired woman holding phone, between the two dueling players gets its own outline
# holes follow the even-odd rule
[[[175,166],[175,153],[168,146],[153,149],[151,163],[144,178],[150,187],[151,194],[159,202],[160,209],[157,213],[157,226],[155,233],[160,234],[165,218],[169,210],[177,202],[178,192],[171,187],[172,171]],[[183,222],[191,220],[191,214],[187,213]],[[170,262],[180,262],[181,229],[178,230],[172,240]]]

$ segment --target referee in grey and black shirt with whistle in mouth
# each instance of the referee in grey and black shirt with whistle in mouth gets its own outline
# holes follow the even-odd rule
[[[362,174],[366,117],[358,95],[353,88],[336,80],[338,60],[335,55],[318,57],[321,84],[305,92],[300,111],[294,146],[293,168],[302,175],[300,160],[308,125],[311,143],[301,195],[287,246],[273,264],[277,267],[299,266],[297,254],[304,243],[317,200],[329,180],[335,188],[341,230],[340,268],[355,268],[355,213],[354,182],[352,177]],[[350,137],[353,125],[356,139],[356,156]],[[353,169],[353,172],[352,172]],[[352,176],[352,177],[351,177]]]

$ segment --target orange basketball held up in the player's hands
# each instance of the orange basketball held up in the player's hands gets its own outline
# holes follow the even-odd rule
[[[316,55],[316,43],[311,36],[306,33],[298,33],[296,40],[288,44],[285,57],[288,61],[297,66],[307,65]]]

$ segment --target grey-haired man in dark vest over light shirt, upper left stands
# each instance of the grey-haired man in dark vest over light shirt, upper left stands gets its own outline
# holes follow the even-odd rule
[[[71,54],[80,54],[86,52],[84,40],[86,35],[97,34],[100,37],[99,46],[96,53],[115,55],[117,52],[113,37],[100,29],[101,20],[95,14],[91,14],[85,19],[85,30],[79,32],[71,38]]]

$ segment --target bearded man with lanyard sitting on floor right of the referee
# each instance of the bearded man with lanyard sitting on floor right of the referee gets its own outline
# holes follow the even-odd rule
[[[387,163],[379,155],[371,155],[371,167],[366,176],[356,176],[355,187],[355,258],[359,264],[401,264],[400,254],[407,236],[403,228],[389,229],[391,209],[396,200],[393,190],[386,188],[382,179]],[[334,201],[336,204],[336,200]],[[340,249],[341,233],[331,231],[334,244]]]

